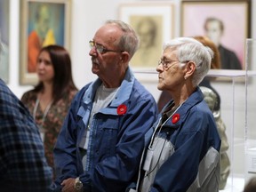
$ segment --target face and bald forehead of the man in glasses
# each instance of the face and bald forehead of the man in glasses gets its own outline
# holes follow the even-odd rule
[[[124,68],[121,65],[122,52],[116,45],[120,36],[122,36],[122,31],[119,28],[107,24],[101,27],[92,39],[95,44],[100,44],[107,50],[115,51],[100,53],[93,46],[89,52],[92,57],[92,73],[99,76],[102,81],[108,79],[109,76],[115,76],[121,71],[121,68]]]

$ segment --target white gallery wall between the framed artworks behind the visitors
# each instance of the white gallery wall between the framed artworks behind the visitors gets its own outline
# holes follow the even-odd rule
[[[174,36],[180,36],[180,1],[169,0],[161,2],[172,2],[175,7],[175,28]],[[91,73],[91,60],[89,56],[89,40],[94,36],[95,31],[108,19],[118,19],[118,6],[124,3],[145,2],[143,0],[71,0],[71,46],[70,55],[73,63],[73,75],[76,85],[81,88],[84,84],[92,81],[96,76]],[[150,1],[160,2],[160,1]],[[256,5],[252,1],[252,38],[255,36],[256,20],[253,20],[253,10],[256,12]],[[20,66],[20,0],[10,0],[10,82],[9,86],[18,97],[32,86],[19,84]],[[253,25],[254,23],[254,25]],[[156,77],[156,76],[155,76]],[[155,78],[157,80],[157,78]],[[143,78],[142,78],[143,81]],[[142,82],[143,83],[143,82]],[[149,83],[146,81],[147,86]],[[221,83],[220,83],[221,84]],[[153,85],[153,84],[152,84]],[[155,84],[154,84],[155,85]],[[159,92],[153,94],[157,99]],[[151,90],[151,87],[150,87]]]

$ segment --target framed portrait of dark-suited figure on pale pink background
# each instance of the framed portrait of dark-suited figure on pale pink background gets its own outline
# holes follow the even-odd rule
[[[208,36],[219,48],[220,69],[244,69],[250,8],[250,0],[184,0],[181,36]]]

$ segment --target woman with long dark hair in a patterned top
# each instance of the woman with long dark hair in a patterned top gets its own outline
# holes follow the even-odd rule
[[[59,45],[42,48],[37,57],[36,73],[39,83],[33,90],[25,92],[21,101],[36,120],[47,162],[54,170],[52,150],[77,92],[67,50]]]

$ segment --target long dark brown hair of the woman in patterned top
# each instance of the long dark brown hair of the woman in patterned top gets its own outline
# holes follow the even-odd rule
[[[48,45],[41,49],[41,52],[48,52],[54,69],[52,98],[53,103],[60,100],[63,94],[77,90],[72,77],[71,60],[68,51],[60,45]],[[39,56],[38,54],[38,56]],[[34,91],[44,90],[42,81],[35,86]]]

